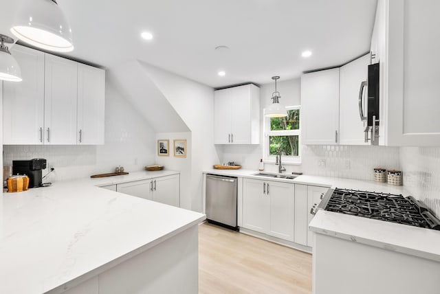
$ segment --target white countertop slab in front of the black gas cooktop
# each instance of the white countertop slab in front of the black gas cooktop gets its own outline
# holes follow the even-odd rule
[[[440,262],[440,231],[437,230],[325,210],[318,210],[309,229],[318,234]]]

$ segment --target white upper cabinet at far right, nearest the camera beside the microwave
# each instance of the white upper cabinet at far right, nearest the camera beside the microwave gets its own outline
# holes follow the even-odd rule
[[[379,0],[380,145],[440,146],[440,1]]]

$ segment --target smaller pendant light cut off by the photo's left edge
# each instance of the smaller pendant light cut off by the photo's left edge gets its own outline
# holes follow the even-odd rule
[[[14,39],[0,34],[0,80],[21,82],[20,66],[5,43],[12,44]]]

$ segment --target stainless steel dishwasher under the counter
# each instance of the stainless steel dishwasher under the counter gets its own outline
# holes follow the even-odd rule
[[[206,175],[206,219],[208,223],[239,230],[236,224],[236,177]]]

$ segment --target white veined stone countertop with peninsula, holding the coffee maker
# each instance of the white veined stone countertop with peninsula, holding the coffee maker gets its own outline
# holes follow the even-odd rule
[[[204,214],[96,187],[176,173],[133,172],[4,193],[0,293],[61,292],[200,223]]]

